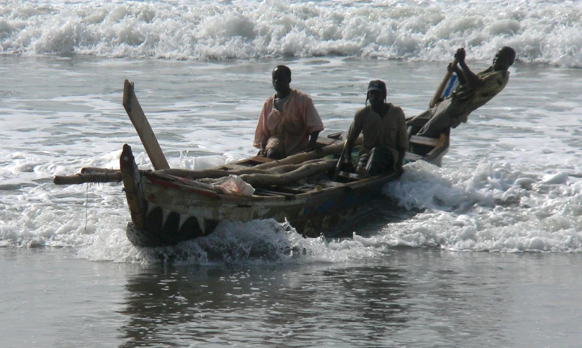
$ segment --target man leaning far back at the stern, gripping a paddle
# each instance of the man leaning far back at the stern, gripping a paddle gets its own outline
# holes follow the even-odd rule
[[[411,134],[438,138],[441,132],[466,122],[469,113],[493,99],[507,85],[507,69],[515,61],[515,51],[509,46],[502,47],[493,58],[493,66],[478,74],[466,65],[465,49],[458,49],[454,58],[461,67],[454,67],[461,85],[433,108],[407,119],[407,126],[412,127]],[[448,69],[451,71],[452,66]]]

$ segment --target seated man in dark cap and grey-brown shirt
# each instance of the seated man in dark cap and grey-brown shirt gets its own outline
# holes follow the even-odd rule
[[[357,173],[361,176],[392,171],[402,173],[402,162],[408,148],[406,120],[400,106],[386,103],[386,94],[383,81],[371,81],[366,94],[366,107],[356,112],[347,132],[346,166],[352,164],[354,142],[360,132],[364,133],[357,167]]]

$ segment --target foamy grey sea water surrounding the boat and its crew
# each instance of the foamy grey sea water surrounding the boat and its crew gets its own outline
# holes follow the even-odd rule
[[[0,4],[0,337],[4,347],[575,347],[582,300],[582,4],[576,1],[16,1]],[[271,70],[286,64],[326,132],[369,80],[407,116],[454,51],[500,46],[507,87],[411,163],[345,239],[224,222],[137,248],[123,185],[151,168],[135,93],[172,168],[256,154]],[[355,218],[355,217],[354,217]]]

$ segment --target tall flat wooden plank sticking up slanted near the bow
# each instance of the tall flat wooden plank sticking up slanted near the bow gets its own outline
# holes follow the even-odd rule
[[[168,166],[168,161],[166,161],[166,157],[163,156],[158,139],[156,139],[156,135],[154,134],[154,131],[151,130],[151,126],[144,115],[142,106],[140,106],[140,102],[137,101],[137,97],[135,97],[133,82],[129,82],[128,80],[125,80],[123,85],[123,107],[128,113],[128,116],[130,116],[130,120],[137,131],[137,135],[140,135],[142,144],[144,144],[147,156],[149,156],[151,165],[154,166],[154,169],[159,170],[170,168],[170,166]]]

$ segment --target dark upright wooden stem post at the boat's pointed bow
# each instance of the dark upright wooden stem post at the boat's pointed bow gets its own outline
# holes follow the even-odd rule
[[[121,175],[123,176],[123,188],[125,189],[125,197],[128,199],[128,206],[130,208],[131,220],[135,228],[144,228],[144,212],[140,209],[140,199],[142,199],[137,185],[140,182],[140,175],[135,164],[135,157],[128,144],[123,144],[123,151],[119,157],[119,168],[121,168]]]

